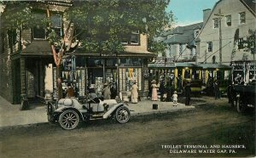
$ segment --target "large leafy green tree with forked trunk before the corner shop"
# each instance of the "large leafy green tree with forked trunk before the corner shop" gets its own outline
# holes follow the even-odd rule
[[[36,20],[37,17],[33,16],[32,4],[38,2],[48,5],[47,1],[1,2],[6,6],[2,24],[7,30],[19,30],[20,42],[23,28],[43,26],[48,31],[47,39],[52,48],[58,77],[61,76],[63,56],[73,52],[79,44],[84,48],[84,52],[119,54],[124,51],[122,40],[130,38],[131,31],[147,33],[148,40],[152,41],[154,35],[160,33],[164,26],[171,25],[173,20],[172,13],[165,11],[170,0],[73,1],[73,7],[64,13],[64,19],[69,21],[69,24],[63,37],[59,37],[51,28],[49,8],[46,9],[47,17],[44,20]],[[148,43],[155,45],[153,42]],[[21,49],[20,47],[20,51]]]

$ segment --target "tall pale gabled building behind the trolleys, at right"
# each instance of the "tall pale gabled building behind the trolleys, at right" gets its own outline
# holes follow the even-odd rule
[[[212,10],[205,9],[204,25],[197,39],[197,62],[220,64],[220,49],[224,65],[232,61],[252,61],[253,55],[245,51],[243,41],[249,29],[255,30],[255,9],[253,0],[219,0]]]

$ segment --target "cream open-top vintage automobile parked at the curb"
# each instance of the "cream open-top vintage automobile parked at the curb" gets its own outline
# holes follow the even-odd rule
[[[59,122],[63,129],[74,129],[80,121],[115,118],[119,123],[130,120],[130,110],[125,103],[117,103],[115,99],[60,99],[56,104],[47,104],[49,122]]]

